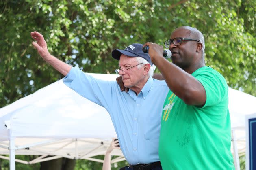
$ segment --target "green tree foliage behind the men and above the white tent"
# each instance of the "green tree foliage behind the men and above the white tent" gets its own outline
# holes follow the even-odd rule
[[[61,79],[33,49],[44,35],[52,55],[85,72],[113,74],[111,51],[163,44],[182,25],[204,34],[206,65],[256,96],[255,0],[2,0],[0,107]]]

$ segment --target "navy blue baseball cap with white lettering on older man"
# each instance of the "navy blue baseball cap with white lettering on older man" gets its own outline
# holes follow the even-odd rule
[[[153,64],[150,60],[150,56],[148,55],[148,53],[144,53],[142,51],[142,47],[142,44],[134,43],[127,46],[124,50],[114,49],[112,51],[112,57],[117,60],[120,60],[120,56],[122,54],[127,55],[128,57],[142,57],[145,60],[147,60],[149,64],[152,66]]]

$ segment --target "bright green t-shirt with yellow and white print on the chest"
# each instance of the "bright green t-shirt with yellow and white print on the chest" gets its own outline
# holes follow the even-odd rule
[[[228,85],[210,67],[192,76],[204,86],[206,103],[187,105],[171,91],[167,94],[159,139],[163,170],[232,170]]]

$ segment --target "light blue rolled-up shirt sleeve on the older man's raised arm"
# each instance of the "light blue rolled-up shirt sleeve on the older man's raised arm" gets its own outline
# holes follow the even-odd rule
[[[95,79],[85,74],[77,66],[72,67],[64,77],[63,83],[76,91],[81,96],[105,107],[107,110],[111,105],[111,98],[115,89],[114,81]]]

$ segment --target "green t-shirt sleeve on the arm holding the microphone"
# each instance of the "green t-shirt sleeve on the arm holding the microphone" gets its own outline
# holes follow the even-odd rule
[[[221,102],[228,90],[226,80],[221,74],[214,70],[206,70],[195,78],[202,83],[206,91],[206,102],[202,108]]]

